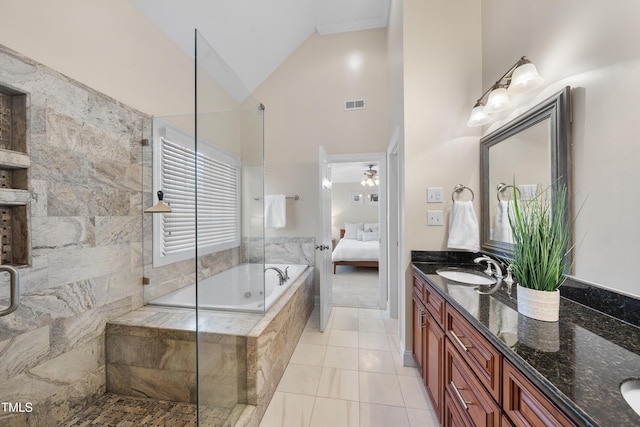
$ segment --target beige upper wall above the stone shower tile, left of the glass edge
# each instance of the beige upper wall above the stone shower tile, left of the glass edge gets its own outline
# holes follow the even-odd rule
[[[193,60],[130,1],[0,0],[0,10],[3,45],[147,114],[193,111]]]

